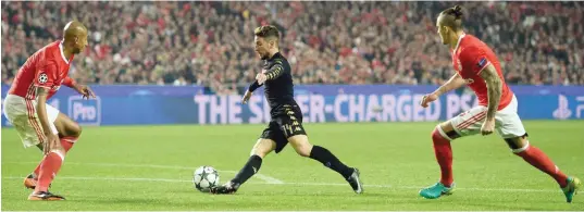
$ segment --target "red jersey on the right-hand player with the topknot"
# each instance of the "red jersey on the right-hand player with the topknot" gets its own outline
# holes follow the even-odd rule
[[[501,99],[497,110],[504,109],[511,102],[513,92],[505,83],[499,60],[488,46],[474,36],[462,34],[457,47],[450,53],[455,70],[474,91],[480,105],[488,105],[487,86],[480,73],[489,64],[495,66],[502,83]]]

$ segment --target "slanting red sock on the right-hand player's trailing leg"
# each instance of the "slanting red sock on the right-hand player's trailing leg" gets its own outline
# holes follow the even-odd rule
[[[517,155],[523,158],[523,160],[527,161],[527,163],[554,177],[554,179],[556,179],[556,182],[558,182],[562,188],[568,185],[566,182],[568,177],[560,171],[560,169],[558,169],[558,166],[556,166],[556,164],[554,164],[549,158],[547,158],[546,153],[544,153],[537,147],[530,146],[530,144],[527,144],[523,151],[518,151],[519,152],[514,152]]]

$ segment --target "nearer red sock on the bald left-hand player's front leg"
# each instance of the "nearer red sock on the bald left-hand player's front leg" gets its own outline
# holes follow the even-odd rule
[[[52,179],[61,169],[63,160],[62,153],[49,152],[40,162],[40,174],[38,175],[38,184],[35,191],[47,191]]]

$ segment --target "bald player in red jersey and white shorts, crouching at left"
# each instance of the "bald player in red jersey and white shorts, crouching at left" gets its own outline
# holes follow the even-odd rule
[[[76,84],[69,75],[74,54],[87,47],[87,28],[79,22],[70,22],[64,28],[64,38],[35,52],[21,67],[4,99],[4,115],[16,128],[24,147],[37,146],[45,153],[35,171],[24,185],[35,189],[29,200],[64,200],[49,192],[48,188],[61,169],[66,152],[82,133],[77,123],[58,109],[47,104],[65,85],[84,97],[95,98],[85,85]]]

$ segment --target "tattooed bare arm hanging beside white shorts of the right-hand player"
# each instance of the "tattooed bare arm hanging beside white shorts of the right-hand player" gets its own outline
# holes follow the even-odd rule
[[[501,99],[502,82],[497,74],[497,70],[489,64],[480,73],[487,85],[488,107],[485,123],[481,128],[483,135],[489,135],[495,129],[495,113]]]

